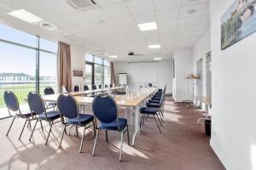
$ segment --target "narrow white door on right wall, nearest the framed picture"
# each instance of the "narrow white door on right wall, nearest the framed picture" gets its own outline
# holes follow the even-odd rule
[[[206,67],[207,67],[207,97],[212,97],[212,57],[211,52],[207,54],[207,61],[206,61]]]

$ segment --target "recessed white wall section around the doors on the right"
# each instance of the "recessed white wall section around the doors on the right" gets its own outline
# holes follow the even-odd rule
[[[207,53],[211,51],[211,32],[210,29],[200,38],[198,42],[195,43],[195,46],[192,48],[193,54],[193,73],[196,74],[196,61],[202,59],[203,69],[202,69],[202,95],[207,95]],[[194,81],[195,83],[196,81]],[[196,86],[195,86],[195,96],[197,95]]]

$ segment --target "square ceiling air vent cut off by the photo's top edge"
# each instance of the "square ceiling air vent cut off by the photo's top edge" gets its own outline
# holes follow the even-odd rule
[[[68,0],[67,3],[75,9],[96,8],[94,0]]]

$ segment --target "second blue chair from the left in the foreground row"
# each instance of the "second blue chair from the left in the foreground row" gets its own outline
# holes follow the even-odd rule
[[[40,122],[42,126],[42,121],[49,122],[49,133],[51,132],[51,127],[53,124],[55,124],[56,120],[60,118],[60,113],[58,111],[46,111],[44,100],[42,99],[41,95],[37,92],[30,92],[27,94],[27,103],[29,105],[29,108],[32,113],[35,114],[36,123],[35,126],[32,129],[31,136],[29,138],[29,141],[32,139],[32,135],[34,133],[35,128],[37,127],[37,123]],[[43,127],[42,127],[43,131]],[[49,139],[49,133],[47,135],[47,139],[45,141],[45,144],[48,143]]]

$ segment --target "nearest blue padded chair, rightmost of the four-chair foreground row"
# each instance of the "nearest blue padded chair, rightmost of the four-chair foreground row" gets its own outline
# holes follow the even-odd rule
[[[96,95],[92,102],[92,110],[94,116],[100,122],[99,127],[96,127],[96,139],[92,150],[92,156],[95,155],[96,141],[98,138],[98,134],[101,132],[101,130],[105,130],[107,142],[108,130],[112,130],[121,133],[121,145],[119,151],[119,161],[121,161],[123,138],[125,132],[127,132],[128,144],[130,145],[129,127],[127,124],[127,119],[119,118],[118,106],[115,100],[108,94]]]

